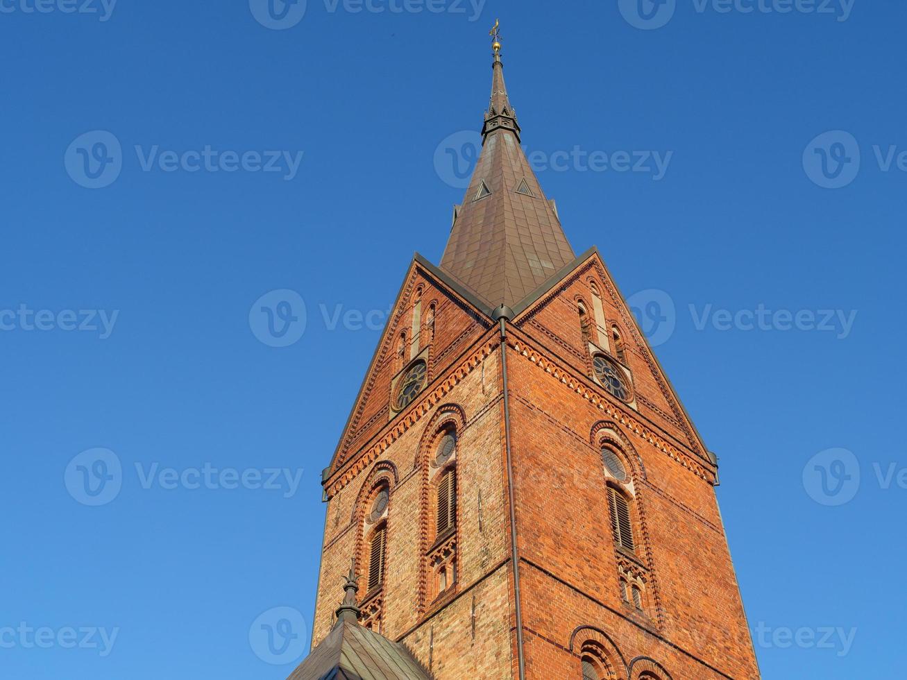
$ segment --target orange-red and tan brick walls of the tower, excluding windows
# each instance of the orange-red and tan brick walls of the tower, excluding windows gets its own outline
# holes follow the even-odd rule
[[[590,281],[605,328],[618,325],[626,344],[636,391],[629,404],[591,377],[576,307],[579,297],[591,306]],[[433,382],[390,418],[393,338],[409,328],[420,286],[438,308]],[[496,328],[479,318],[414,266],[327,481],[314,644],[332,626],[349,559],[357,557],[360,573],[366,568],[363,499],[380,478],[392,483],[382,634],[409,646],[439,680],[516,675],[500,346]],[[758,677],[712,487],[715,466],[597,256],[509,325],[507,352],[527,677],[581,677],[587,639],[618,678],[630,666],[633,678],[646,669],[663,680]],[[457,583],[429,601],[429,461],[445,419],[458,433]],[[628,557],[611,534],[596,439],[603,421],[626,456],[642,611],[620,593],[619,560],[626,565]]]

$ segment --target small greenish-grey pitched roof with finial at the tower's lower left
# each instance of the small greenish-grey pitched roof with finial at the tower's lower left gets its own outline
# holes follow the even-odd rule
[[[353,568],[331,632],[287,680],[432,680],[399,643],[359,626]]]

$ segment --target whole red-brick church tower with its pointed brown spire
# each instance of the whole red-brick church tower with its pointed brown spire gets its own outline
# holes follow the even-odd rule
[[[493,34],[444,256],[414,256],[323,473],[290,677],[758,678],[716,458],[599,251],[565,237]]]

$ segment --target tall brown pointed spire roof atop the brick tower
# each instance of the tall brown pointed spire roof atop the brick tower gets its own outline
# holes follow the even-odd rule
[[[491,308],[517,306],[575,257],[554,201],[545,198],[520,146],[498,25],[482,153],[441,258],[441,268]]]

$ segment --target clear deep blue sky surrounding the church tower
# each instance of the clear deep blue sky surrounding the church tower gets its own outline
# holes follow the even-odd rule
[[[444,248],[439,143],[481,124],[496,16],[573,247],[662,291],[636,299],[720,457],[764,675],[902,674],[903,3],[83,2],[0,0],[0,675],[288,675],[319,472],[413,251]],[[656,180],[619,151],[672,153]]]

